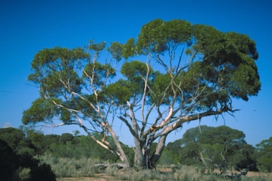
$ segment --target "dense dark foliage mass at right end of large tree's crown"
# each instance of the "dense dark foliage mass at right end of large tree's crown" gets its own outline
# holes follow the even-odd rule
[[[234,98],[248,100],[260,90],[259,74],[254,60],[259,55],[256,44],[246,35],[221,33],[215,28],[195,25],[196,49],[203,54],[205,78],[221,86]]]

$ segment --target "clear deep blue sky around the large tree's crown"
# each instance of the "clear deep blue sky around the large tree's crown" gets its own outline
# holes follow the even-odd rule
[[[212,25],[223,32],[235,31],[256,41],[261,91],[248,102],[234,101],[242,109],[235,117],[225,115],[225,125],[246,134],[249,144],[272,136],[272,1],[269,0],[167,0],[167,1],[0,1],[0,127],[19,127],[23,110],[38,98],[38,89],[26,80],[36,52],[50,47],[83,47],[96,42],[125,42],[137,37],[145,23],[183,19],[193,24]],[[224,124],[213,117],[202,124]],[[180,139],[188,127],[171,134],[167,141]],[[125,126],[123,126],[125,127]],[[45,131],[45,134],[72,132],[72,127]],[[81,131],[79,129],[79,131]],[[120,139],[130,143],[125,132]]]

